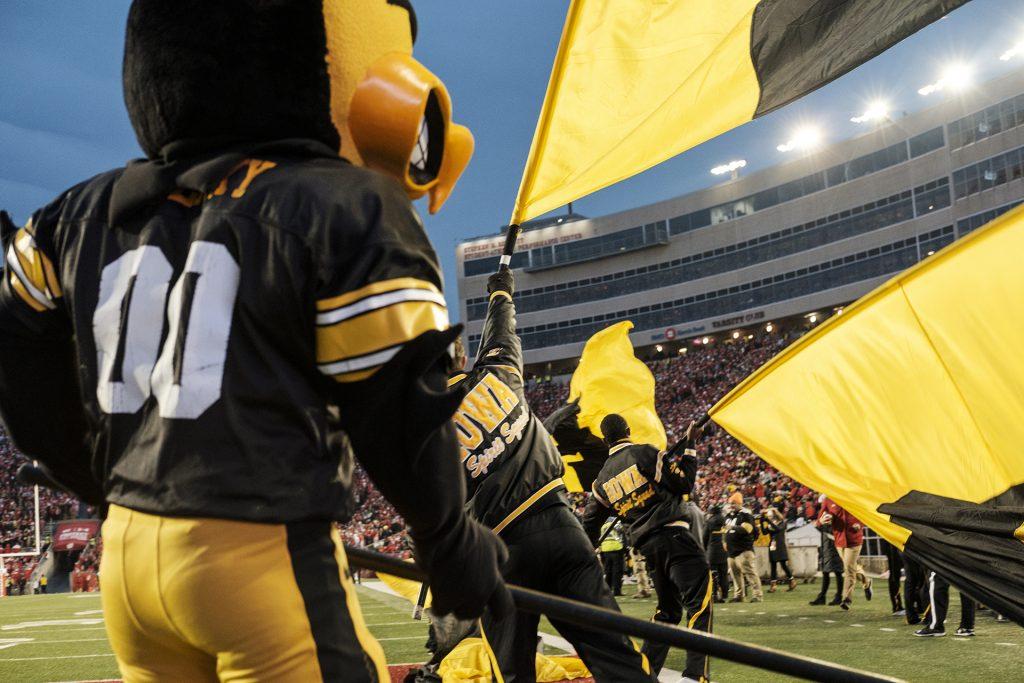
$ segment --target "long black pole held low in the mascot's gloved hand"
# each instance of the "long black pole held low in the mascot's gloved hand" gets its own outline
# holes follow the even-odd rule
[[[397,557],[382,555],[364,548],[345,546],[345,553],[353,566],[388,573],[400,579],[425,582],[426,572],[411,562]],[[899,679],[880,674],[850,669],[799,654],[791,654],[760,645],[751,645],[731,638],[723,638],[703,631],[681,629],[658,622],[644,622],[622,612],[568,600],[540,591],[509,585],[516,607],[534,614],[546,614],[568,624],[633,636],[701,652],[721,659],[796,676],[822,683],[895,683]]]

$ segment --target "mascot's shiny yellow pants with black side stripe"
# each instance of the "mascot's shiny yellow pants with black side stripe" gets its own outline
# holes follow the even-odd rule
[[[126,683],[390,680],[328,522],[112,506],[99,577]]]

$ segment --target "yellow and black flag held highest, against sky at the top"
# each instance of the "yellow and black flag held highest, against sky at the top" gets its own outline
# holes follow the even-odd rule
[[[968,0],[572,0],[512,223],[842,76]]]

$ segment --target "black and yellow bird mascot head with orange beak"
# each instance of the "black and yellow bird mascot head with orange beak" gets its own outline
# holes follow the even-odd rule
[[[413,58],[410,0],[134,0],[124,90],[139,144],[319,140],[435,213],[473,154]]]

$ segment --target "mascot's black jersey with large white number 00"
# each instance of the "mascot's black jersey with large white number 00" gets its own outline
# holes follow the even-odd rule
[[[0,374],[9,430],[28,453],[88,454],[100,496],[144,512],[344,518],[332,383],[447,327],[399,185],[313,140],[171,145],[5,243],[0,330],[23,361]],[[66,429],[76,416],[88,443]]]

